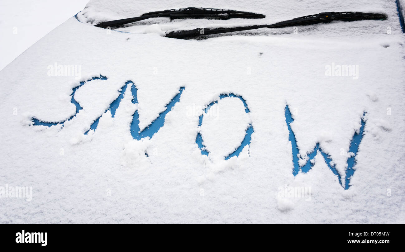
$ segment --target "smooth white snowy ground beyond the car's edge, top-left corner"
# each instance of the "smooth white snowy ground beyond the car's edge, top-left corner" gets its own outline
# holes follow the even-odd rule
[[[84,8],[88,0],[2,0],[0,70],[28,47]]]

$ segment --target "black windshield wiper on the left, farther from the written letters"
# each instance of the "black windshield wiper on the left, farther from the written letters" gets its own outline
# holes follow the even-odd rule
[[[126,19],[118,19],[106,21],[96,24],[96,27],[107,28],[114,26],[122,26],[127,23],[145,20],[151,17],[170,17],[171,19],[179,18],[209,18],[209,19],[230,19],[230,18],[264,18],[265,15],[246,11],[233,11],[225,9],[205,9],[188,7],[185,9],[172,9],[165,11],[153,11],[144,13],[140,17],[130,17]]]

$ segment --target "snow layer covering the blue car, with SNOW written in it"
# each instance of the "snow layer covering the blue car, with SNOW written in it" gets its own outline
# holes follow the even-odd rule
[[[405,36],[395,2],[119,2],[91,0],[78,14],[81,22],[68,19],[0,72],[0,186],[33,188],[30,202],[0,199],[0,223],[404,223]],[[91,26],[188,6],[255,11],[266,19],[164,19],[146,28],[149,20],[124,28],[134,33]],[[190,41],[159,32],[274,23],[322,11],[381,11],[388,19]],[[81,66],[80,79],[48,76],[55,62]],[[333,63],[358,66],[358,79],[325,75]],[[108,79],[77,90],[83,110],[63,127],[29,126],[32,117],[70,118],[72,88],[100,75]],[[128,80],[138,88],[138,105],[127,88],[115,116],[107,111],[97,129],[84,135]],[[164,126],[151,139],[134,140],[134,111],[142,130],[183,86]],[[204,117],[199,128],[204,106],[231,93],[243,96],[250,112],[240,99],[227,97],[211,107],[218,113]],[[340,174],[347,160],[341,149],[349,151],[367,112],[348,190],[319,153],[308,173],[294,177],[286,104],[301,155],[319,142]],[[250,145],[224,160],[250,122]],[[209,156],[196,144],[199,131]],[[310,187],[311,200],[281,197],[285,186]]]

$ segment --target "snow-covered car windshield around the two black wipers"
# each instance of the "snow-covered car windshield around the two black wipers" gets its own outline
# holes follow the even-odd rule
[[[128,19],[131,17],[138,17],[139,21],[133,23],[125,23],[117,27],[111,27],[112,30],[120,32],[129,32],[133,34],[158,34],[159,36],[173,36],[179,31],[190,31],[195,29],[205,28],[208,30],[219,28],[237,28],[237,27],[249,27],[249,26],[262,26],[279,23],[285,20],[292,20],[296,17],[313,17],[318,14],[312,13],[324,13],[325,11],[341,11],[343,9],[339,4],[328,2],[327,4],[311,4],[312,2],[305,1],[302,4],[296,3],[294,6],[290,6],[289,9],[283,8],[277,5],[277,2],[266,2],[260,4],[258,2],[252,2],[252,4],[245,4],[241,2],[232,2],[224,4],[221,2],[218,4],[214,1],[203,1],[204,7],[216,7],[216,8],[196,8],[199,7],[194,1],[189,1],[189,4],[196,4],[195,7],[186,7],[181,9],[182,6],[176,6],[173,3],[164,3],[159,1],[136,1],[136,4],[112,5],[106,0],[98,0],[103,2],[103,5],[90,5],[77,14],[77,19],[88,25],[98,25],[102,22],[113,21],[119,19]],[[107,5],[108,4],[108,5]],[[304,6],[305,5],[305,6]],[[366,9],[354,2],[347,1],[344,4],[343,10],[348,10],[350,13],[355,11],[356,13],[367,13]],[[179,8],[180,7],[180,8]],[[179,9],[173,9],[179,8]],[[327,8],[327,9],[326,9]],[[169,12],[192,10],[195,15],[189,15],[187,13],[172,13],[171,15],[164,15]],[[248,17],[248,15],[230,15],[222,11],[233,10],[236,13],[254,13],[256,17]],[[310,11],[308,11],[310,10]],[[376,12],[381,12],[384,9],[375,9]],[[197,13],[197,11],[203,13]],[[204,13],[205,12],[205,13]],[[216,13],[216,14],[215,14]],[[340,12],[342,13],[342,12]],[[344,13],[344,12],[343,12]],[[158,15],[157,15],[158,14]],[[153,16],[154,15],[154,16]],[[149,17],[145,17],[149,16]],[[217,34],[213,35],[204,34],[204,36],[194,36],[194,38],[209,38],[215,36],[230,36],[230,35],[246,35],[246,36],[267,36],[267,35],[283,35],[283,34],[297,34],[296,36],[304,35],[319,36],[322,34],[324,37],[340,37],[341,32],[349,32],[353,36],[361,37],[365,39],[371,36],[384,36],[382,30],[386,30],[387,26],[391,25],[393,21],[388,20],[386,22],[380,21],[356,21],[353,23],[345,23],[341,21],[333,21],[330,24],[315,24],[299,26],[298,30],[294,26],[287,28],[277,29],[254,29],[254,30],[239,30],[238,32]],[[363,29],[367,26],[367,29]],[[392,26],[392,25],[391,25]],[[295,29],[295,30],[293,30]],[[198,30],[200,31],[200,30]],[[352,32],[350,32],[352,31]]]

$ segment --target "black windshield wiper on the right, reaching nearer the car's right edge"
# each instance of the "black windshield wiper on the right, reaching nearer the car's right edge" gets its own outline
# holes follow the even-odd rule
[[[297,17],[287,21],[281,21],[269,25],[255,26],[237,26],[232,28],[197,28],[193,30],[176,30],[166,32],[168,38],[191,38],[210,34],[220,34],[226,32],[239,32],[245,30],[254,30],[259,28],[283,28],[288,26],[304,26],[315,23],[329,23],[334,20],[357,21],[357,20],[384,20],[387,16],[380,13],[362,13],[362,12],[322,12],[319,14]]]

